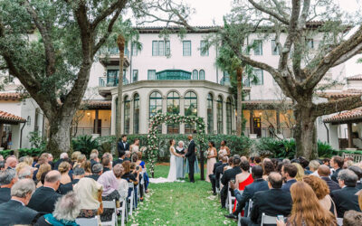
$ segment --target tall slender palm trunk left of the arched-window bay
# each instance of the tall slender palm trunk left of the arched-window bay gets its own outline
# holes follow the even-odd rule
[[[122,112],[122,92],[123,92],[123,60],[124,60],[124,49],[125,49],[125,38],[122,34],[119,34],[117,39],[117,44],[119,46],[119,85],[118,85],[118,111],[119,115],[116,120],[116,136],[119,139],[120,134],[120,125],[121,125],[121,112]]]

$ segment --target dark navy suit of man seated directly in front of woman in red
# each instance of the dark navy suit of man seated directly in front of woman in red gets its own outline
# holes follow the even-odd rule
[[[249,205],[249,200],[252,199],[254,196],[254,193],[262,192],[262,191],[268,191],[269,186],[266,181],[264,181],[262,178],[254,180],[252,184],[249,184],[245,187],[243,190],[243,194],[240,193],[238,189],[235,189],[233,191],[233,194],[235,195],[235,198],[237,200],[237,208],[236,212],[234,212],[235,215],[239,214],[239,212],[243,211],[243,208],[245,207],[245,216],[247,216],[247,207]]]

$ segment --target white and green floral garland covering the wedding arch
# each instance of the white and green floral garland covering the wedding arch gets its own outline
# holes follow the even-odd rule
[[[196,116],[180,116],[176,114],[162,114],[157,113],[156,115],[149,118],[148,127],[148,165],[150,173],[153,175],[155,172],[155,165],[157,162],[158,154],[158,137],[157,127],[162,123],[170,124],[193,124],[195,123],[196,136],[195,140],[200,146],[205,146],[205,122],[204,118]]]

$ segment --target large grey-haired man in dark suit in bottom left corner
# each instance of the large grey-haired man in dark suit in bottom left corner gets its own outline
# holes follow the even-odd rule
[[[11,189],[11,200],[0,204],[1,225],[33,225],[33,222],[37,220],[38,212],[26,205],[32,198],[34,190],[35,184],[32,179],[19,180],[14,184]]]

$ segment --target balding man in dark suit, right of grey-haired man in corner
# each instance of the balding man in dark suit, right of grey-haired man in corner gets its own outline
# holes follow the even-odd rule
[[[51,213],[61,194],[56,193],[61,184],[61,173],[52,170],[45,175],[44,185],[35,190],[28,207],[37,212]]]

